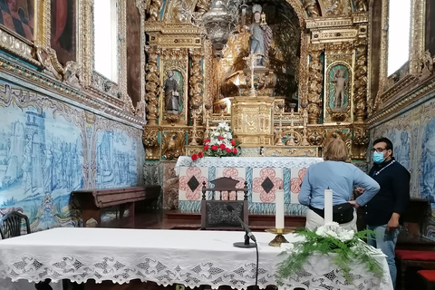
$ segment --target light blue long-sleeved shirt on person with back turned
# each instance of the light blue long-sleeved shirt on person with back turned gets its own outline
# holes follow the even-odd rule
[[[306,171],[299,193],[299,202],[313,208],[324,208],[324,189],[333,189],[333,205],[349,201],[353,187],[365,189],[356,198],[364,206],[379,191],[379,184],[351,163],[324,161],[311,165]]]

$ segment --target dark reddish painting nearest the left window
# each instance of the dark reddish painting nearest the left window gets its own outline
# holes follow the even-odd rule
[[[2,0],[0,0],[2,1]],[[51,45],[59,63],[76,61],[77,5],[76,0],[52,0]]]

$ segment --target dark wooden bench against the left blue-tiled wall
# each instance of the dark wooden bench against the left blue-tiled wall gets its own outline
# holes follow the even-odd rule
[[[129,209],[134,219],[134,203],[140,200],[157,200],[160,197],[160,186],[142,186],[120,189],[85,189],[71,193],[73,202],[82,211],[82,227],[93,218],[100,227],[102,224],[102,208],[120,206],[120,218],[125,209]]]

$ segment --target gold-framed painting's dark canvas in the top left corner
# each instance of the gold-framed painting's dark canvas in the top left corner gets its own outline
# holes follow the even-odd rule
[[[24,40],[34,41],[34,0],[0,0],[0,24]]]

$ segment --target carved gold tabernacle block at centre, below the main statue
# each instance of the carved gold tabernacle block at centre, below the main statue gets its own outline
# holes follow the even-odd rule
[[[272,110],[275,99],[266,96],[235,97],[231,102],[231,127],[243,146],[272,145]]]

